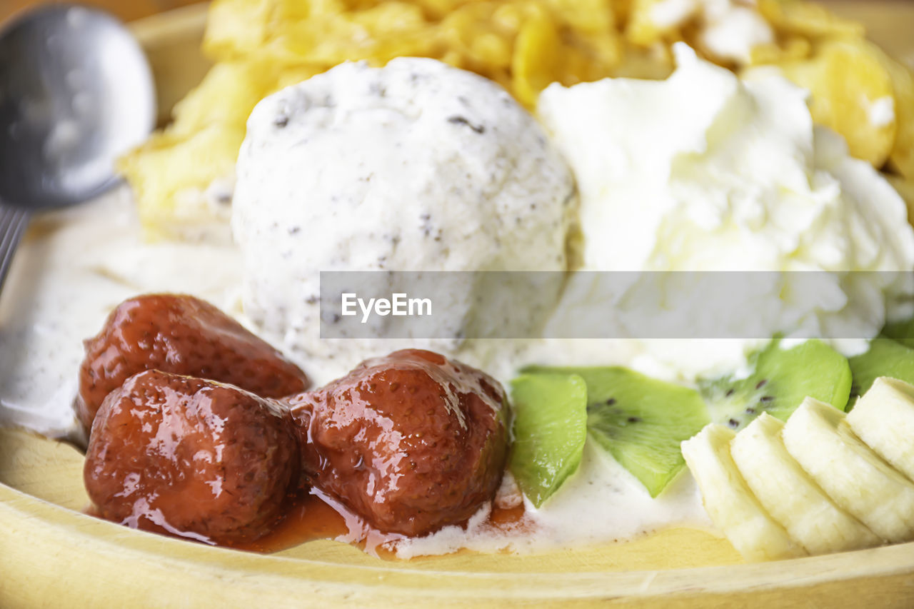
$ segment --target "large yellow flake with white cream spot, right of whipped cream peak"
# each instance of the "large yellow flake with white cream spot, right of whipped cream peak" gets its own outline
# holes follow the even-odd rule
[[[812,93],[816,123],[844,135],[851,155],[882,166],[895,144],[892,80],[874,45],[831,40],[812,59],[781,64],[784,75]]]

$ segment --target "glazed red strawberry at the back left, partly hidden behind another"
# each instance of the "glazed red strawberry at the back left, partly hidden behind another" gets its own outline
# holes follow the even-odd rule
[[[231,383],[264,398],[292,395],[310,384],[279,351],[193,296],[147,294],[124,301],[85,349],[76,411],[86,431],[105,396],[143,370]]]

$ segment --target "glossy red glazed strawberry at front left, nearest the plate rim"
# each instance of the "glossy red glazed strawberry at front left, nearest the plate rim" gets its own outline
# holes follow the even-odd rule
[[[153,370],[105,398],[83,476],[103,518],[234,544],[282,518],[300,463],[284,405]]]

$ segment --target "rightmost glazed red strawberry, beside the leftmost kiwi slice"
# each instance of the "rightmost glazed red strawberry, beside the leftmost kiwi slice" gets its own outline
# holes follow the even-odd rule
[[[304,475],[382,531],[416,536],[462,522],[501,482],[504,390],[438,354],[369,359],[290,402]]]

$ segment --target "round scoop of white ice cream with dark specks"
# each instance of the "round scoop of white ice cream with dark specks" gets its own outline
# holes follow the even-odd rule
[[[453,354],[460,326],[426,328],[421,338],[441,337],[433,342],[322,340],[319,273],[564,271],[576,204],[558,151],[493,81],[434,59],[345,63],[250,115],[232,206],[244,310],[318,381],[395,347]],[[388,293],[404,291],[396,281],[377,277]],[[479,286],[452,281],[452,298],[436,306],[462,320]]]

